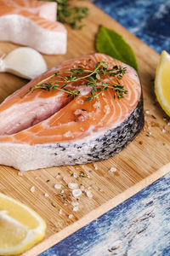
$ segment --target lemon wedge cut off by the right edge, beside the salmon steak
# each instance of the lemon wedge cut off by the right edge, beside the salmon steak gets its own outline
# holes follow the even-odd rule
[[[155,92],[161,108],[170,116],[170,55],[165,50],[156,68]]]

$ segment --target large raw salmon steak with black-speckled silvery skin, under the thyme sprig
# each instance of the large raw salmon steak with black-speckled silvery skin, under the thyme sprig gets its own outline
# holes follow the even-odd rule
[[[120,80],[127,90],[124,98],[115,97],[109,88],[87,102],[91,87],[81,80],[67,85],[80,91],[75,98],[63,90],[38,89],[26,94],[44,79],[55,82],[57,76],[48,79],[54,73],[65,77],[65,70],[71,68],[94,70],[100,61],[106,61],[108,68],[126,67]],[[103,76],[99,83],[107,79]],[[109,80],[116,82],[113,77]],[[108,55],[85,55],[53,67],[0,105],[0,164],[28,171],[105,160],[132,142],[143,126],[142,89],[133,67]]]

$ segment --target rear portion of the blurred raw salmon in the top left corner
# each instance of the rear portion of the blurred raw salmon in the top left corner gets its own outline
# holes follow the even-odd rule
[[[42,2],[37,0],[0,0],[1,6],[9,6],[27,10],[47,20],[56,21],[57,3]]]

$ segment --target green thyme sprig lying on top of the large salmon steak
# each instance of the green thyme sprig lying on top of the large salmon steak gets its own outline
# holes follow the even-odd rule
[[[66,73],[63,77],[60,74]],[[108,63],[105,61],[97,62],[94,66],[94,70],[85,69],[83,66],[78,68],[71,68],[70,70],[64,70],[54,73],[46,79],[43,79],[38,84],[32,86],[26,93],[22,96],[26,96],[31,91],[42,89],[42,90],[61,90],[67,93],[67,97],[76,97],[80,95],[80,90],[78,90],[79,85],[89,86],[91,88],[91,96],[85,96],[86,102],[97,98],[99,94],[107,89],[114,90],[114,98],[123,98],[124,94],[127,94],[124,85],[120,83],[122,76],[126,73],[126,67],[114,66],[111,69],[108,68]],[[48,82],[49,79],[54,77],[57,80]],[[116,78],[116,81],[111,80]],[[103,81],[101,81],[103,79]],[[105,81],[107,80],[107,81]],[[109,80],[109,82],[108,82]],[[76,82],[79,82],[78,85]],[[70,84],[74,83],[74,90],[70,89]]]

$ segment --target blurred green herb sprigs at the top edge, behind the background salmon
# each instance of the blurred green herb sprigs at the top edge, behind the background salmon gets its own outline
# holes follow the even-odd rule
[[[57,20],[75,29],[82,28],[82,19],[89,14],[87,7],[71,7],[69,0],[42,0],[57,3]]]

